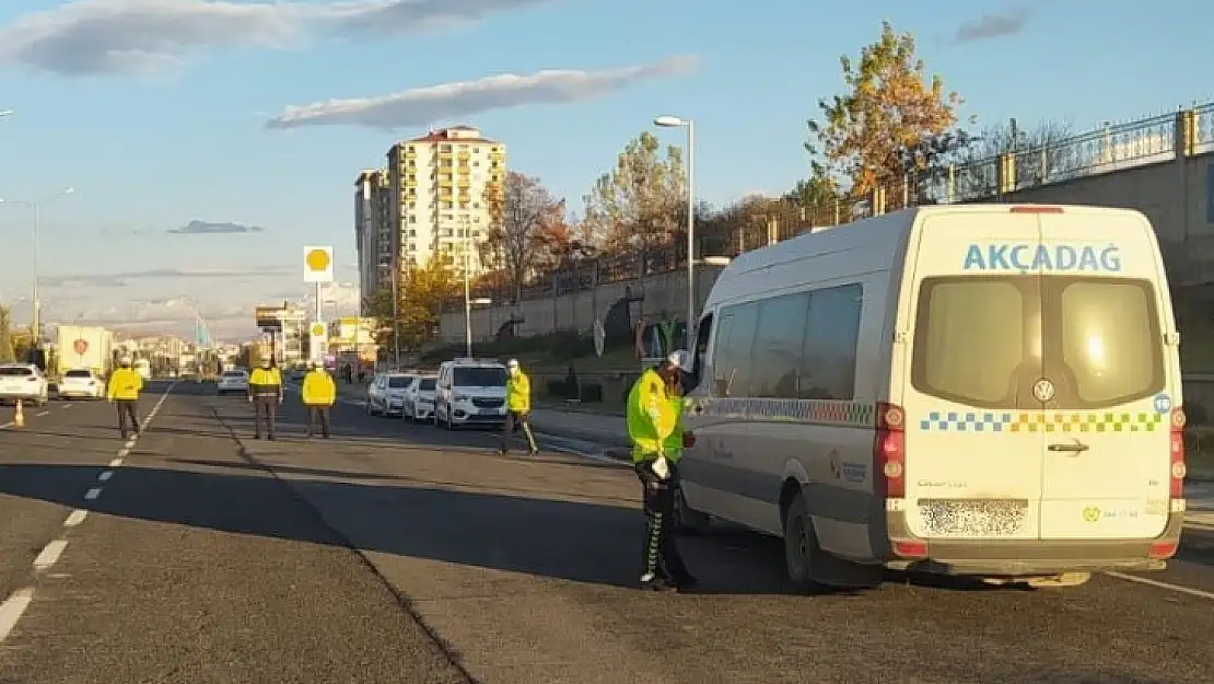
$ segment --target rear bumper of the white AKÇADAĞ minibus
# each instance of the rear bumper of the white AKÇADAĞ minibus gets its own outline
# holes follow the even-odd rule
[[[1176,553],[1185,514],[1173,513],[1152,539],[923,539],[903,513],[885,514],[885,567],[935,575],[1026,577],[1061,572],[1163,570]],[[1170,545],[1170,550],[1169,550]],[[907,554],[908,547],[926,554]]]

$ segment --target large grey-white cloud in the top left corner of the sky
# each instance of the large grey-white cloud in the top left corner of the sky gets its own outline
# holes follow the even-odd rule
[[[159,75],[212,49],[288,49],[404,34],[549,0],[76,0],[0,27],[0,64],[63,75]]]

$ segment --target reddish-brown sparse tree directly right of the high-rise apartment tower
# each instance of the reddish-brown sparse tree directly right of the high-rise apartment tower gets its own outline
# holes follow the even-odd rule
[[[489,244],[501,258],[507,284],[517,300],[527,276],[540,262],[546,230],[565,217],[556,199],[537,177],[510,171],[500,187],[486,192],[493,224]]]

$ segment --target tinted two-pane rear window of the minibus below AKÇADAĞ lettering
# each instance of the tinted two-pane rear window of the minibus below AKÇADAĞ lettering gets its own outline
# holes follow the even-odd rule
[[[1165,386],[1148,281],[1071,276],[926,278],[920,284],[910,381],[980,408],[1096,409]]]

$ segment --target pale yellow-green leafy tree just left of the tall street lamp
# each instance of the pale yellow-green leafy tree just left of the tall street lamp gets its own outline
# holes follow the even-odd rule
[[[663,154],[657,136],[642,132],[585,196],[583,227],[605,250],[662,244],[681,227],[679,216],[686,216],[686,182],[683,151],[669,146]]]

